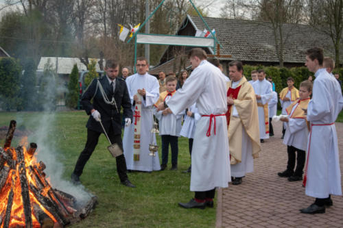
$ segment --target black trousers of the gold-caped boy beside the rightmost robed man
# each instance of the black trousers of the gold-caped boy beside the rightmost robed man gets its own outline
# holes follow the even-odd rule
[[[298,152],[298,156],[296,157],[296,151]],[[293,146],[287,146],[287,153],[288,153],[288,162],[287,162],[287,170],[293,172],[294,166],[296,165],[296,170],[294,171],[294,176],[302,177],[303,176],[303,169],[305,166],[305,151],[297,149]]]

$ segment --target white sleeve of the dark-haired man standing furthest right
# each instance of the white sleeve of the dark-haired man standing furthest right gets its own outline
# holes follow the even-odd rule
[[[333,110],[333,97],[320,85],[322,81],[315,81],[313,96],[307,106],[307,121],[320,121]]]

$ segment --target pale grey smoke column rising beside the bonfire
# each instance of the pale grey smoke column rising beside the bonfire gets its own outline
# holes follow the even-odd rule
[[[93,194],[86,191],[84,186],[75,186],[71,181],[66,181],[62,178],[64,173],[64,165],[58,161],[56,155],[58,151],[56,137],[56,90],[61,90],[63,85],[58,84],[56,72],[51,66],[47,66],[43,75],[43,82],[40,84],[40,107],[43,112],[37,112],[36,116],[29,120],[29,125],[34,127],[34,134],[28,136],[29,142],[36,142],[38,145],[35,153],[37,162],[44,162],[49,183],[53,188],[67,192],[78,201],[79,205],[88,202]],[[29,96],[29,94],[27,94]],[[42,97],[44,96],[44,97]],[[23,123],[21,118],[18,118],[17,123]],[[25,124],[25,123],[23,123]],[[19,124],[17,124],[19,126]],[[58,133],[57,133],[58,134]]]

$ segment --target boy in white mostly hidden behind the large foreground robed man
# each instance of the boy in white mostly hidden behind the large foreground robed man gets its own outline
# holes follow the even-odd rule
[[[180,136],[188,138],[189,155],[192,155],[193,140],[194,135],[196,134],[196,121],[198,121],[200,117],[201,116],[198,113],[196,103],[193,103],[191,107],[186,109]],[[189,168],[187,168],[187,170],[183,171],[182,173],[191,173],[191,166],[189,166]]]

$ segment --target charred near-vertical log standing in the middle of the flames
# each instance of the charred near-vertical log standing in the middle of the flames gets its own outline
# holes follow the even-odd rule
[[[32,227],[31,204],[29,203],[29,186],[27,185],[25,160],[24,160],[22,147],[18,147],[16,149],[16,159],[18,160],[18,164],[19,164],[19,179],[21,181],[21,197],[23,197],[25,226],[27,228],[31,228]]]

